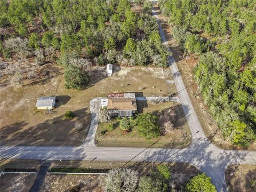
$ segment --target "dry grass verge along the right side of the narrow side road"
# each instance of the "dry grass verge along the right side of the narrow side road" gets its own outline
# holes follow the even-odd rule
[[[208,137],[216,146],[219,146],[223,149],[235,149],[238,148],[237,146],[231,145],[229,141],[226,141],[221,134],[221,131],[218,129],[217,124],[215,123],[214,119],[210,115],[210,111],[204,103],[203,98],[201,95],[197,95],[195,97],[195,93],[197,91],[196,82],[194,79],[194,68],[198,63],[198,58],[193,60],[194,55],[190,55],[190,58],[183,59],[183,53],[179,49],[179,45],[175,42],[173,35],[172,35],[172,28],[167,25],[167,18],[161,15],[159,7],[155,5],[156,11],[159,12],[158,17],[161,20],[163,30],[167,36],[167,40],[169,42],[169,46],[171,51],[173,52],[173,57],[177,62],[178,68],[181,72],[182,79],[187,87],[187,92],[190,97],[190,101],[193,103],[194,109],[196,111],[197,117],[203,127],[206,137]],[[197,93],[198,94],[198,93]],[[254,143],[250,150],[256,149],[256,143]]]

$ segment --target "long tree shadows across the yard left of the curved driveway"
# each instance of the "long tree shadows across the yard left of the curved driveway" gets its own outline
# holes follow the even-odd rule
[[[52,118],[35,126],[20,121],[1,127],[1,145],[79,146],[86,137],[85,128],[90,124],[91,115],[87,108],[75,110],[73,113],[75,118],[71,120],[65,119],[63,115],[55,117],[50,114]],[[82,131],[76,130],[76,120],[84,125]]]

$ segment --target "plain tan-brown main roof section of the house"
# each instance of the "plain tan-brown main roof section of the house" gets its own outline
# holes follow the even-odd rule
[[[109,110],[137,110],[137,103],[135,98],[109,98]]]

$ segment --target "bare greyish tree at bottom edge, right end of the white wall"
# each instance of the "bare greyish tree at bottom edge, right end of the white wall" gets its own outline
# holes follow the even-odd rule
[[[105,190],[107,192],[135,191],[138,182],[138,172],[131,169],[113,169],[105,177]]]

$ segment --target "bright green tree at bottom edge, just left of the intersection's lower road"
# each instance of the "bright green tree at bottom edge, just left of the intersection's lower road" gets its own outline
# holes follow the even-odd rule
[[[215,192],[215,186],[212,185],[211,178],[207,177],[205,173],[198,174],[193,177],[186,185],[189,192],[207,191]]]

